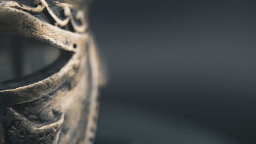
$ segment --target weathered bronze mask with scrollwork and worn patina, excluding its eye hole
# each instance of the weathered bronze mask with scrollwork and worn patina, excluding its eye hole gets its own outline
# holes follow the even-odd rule
[[[15,38],[11,43],[13,53],[18,53],[16,78],[0,83],[1,144],[94,141],[98,87],[104,76],[88,31],[89,4],[88,0],[0,1],[0,33]],[[30,49],[21,49],[18,43],[44,49],[33,40],[56,47],[59,54],[53,63],[23,76],[17,67],[22,52]]]

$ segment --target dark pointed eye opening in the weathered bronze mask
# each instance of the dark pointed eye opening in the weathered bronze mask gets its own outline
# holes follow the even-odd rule
[[[0,85],[20,80],[26,83],[28,77],[44,79],[60,70],[72,54],[39,40],[0,33]]]

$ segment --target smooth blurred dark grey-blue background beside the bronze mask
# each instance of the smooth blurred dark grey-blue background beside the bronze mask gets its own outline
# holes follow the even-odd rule
[[[96,144],[256,143],[254,1],[95,0]]]

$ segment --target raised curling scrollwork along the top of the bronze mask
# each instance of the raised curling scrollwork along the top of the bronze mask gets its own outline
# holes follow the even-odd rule
[[[86,31],[84,11],[78,10],[75,17],[73,17],[71,8],[74,8],[74,6],[72,4],[55,2],[56,5],[61,7],[64,11],[65,19],[61,20],[57,15],[54,14],[54,11],[51,10],[45,0],[35,1],[34,3],[37,5],[37,7],[30,7],[15,1],[0,1],[0,7],[16,8],[30,13],[42,13],[43,10],[47,10],[49,15],[54,19],[55,26],[65,27],[70,22],[75,32],[83,33]],[[75,21],[78,21],[80,25],[78,25]]]

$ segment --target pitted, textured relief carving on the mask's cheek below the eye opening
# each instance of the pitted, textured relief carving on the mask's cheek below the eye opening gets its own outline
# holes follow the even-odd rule
[[[5,138],[13,144],[52,144],[59,139],[61,126],[64,122],[64,115],[58,121],[38,125],[22,116],[15,110],[7,109],[8,122],[5,127]]]

